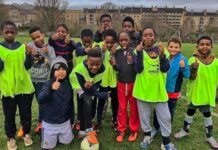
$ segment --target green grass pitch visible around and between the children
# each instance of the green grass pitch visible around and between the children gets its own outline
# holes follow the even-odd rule
[[[0,39],[1,40],[1,39]],[[30,41],[25,35],[19,35],[18,41],[28,42]],[[1,40],[2,41],[2,40]],[[195,44],[183,44],[182,53],[186,57],[190,57],[195,50]],[[213,52],[218,56],[218,45],[214,45]],[[186,82],[186,81],[185,81]],[[192,124],[189,137],[181,140],[175,140],[173,135],[175,132],[179,131],[183,126],[184,114],[187,110],[187,100],[185,97],[185,82],[182,88],[182,98],[177,103],[176,114],[173,122],[172,128],[172,143],[176,145],[179,150],[209,150],[209,145],[205,142],[205,129],[203,124],[203,116],[201,113],[197,112],[194,117],[194,122]],[[0,150],[6,149],[6,136],[4,132],[4,115],[2,111],[2,105],[0,104]],[[214,109],[214,112],[218,113],[218,108]],[[40,149],[40,138],[33,132],[33,129],[37,124],[38,116],[38,105],[36,100],[33,100],[32,104],[32,137],[34,144],[31,147],[25,148],[22,139],[18,139],[18,149],[23,150],[38,150]],[[139,144],[143,138],[143,133],[140,131],[138,140],[130,143],[127,141],[128,133],[125,137],[123,143],[117,143],[115,140],[116,133],[110,128],[111,120],[111,110],[108,109],[106,118],[103,122],[103,129],[98,135],[100,141],[101,150],[140,150]],[[19,115],[16,117],[17,127],[19,128]],[[218,116],[213,116],[214,123],[214,137],[218,140]],[[76,135],[76,133],[75,133]],[[58,145],[56,150],[79,150],[81,139],[75,138],[73,142],[68,145]],[[151,144],[150,150],[159,150],[161,145],[161,135],[159,134]]]

